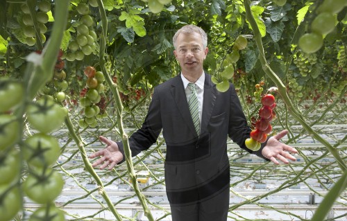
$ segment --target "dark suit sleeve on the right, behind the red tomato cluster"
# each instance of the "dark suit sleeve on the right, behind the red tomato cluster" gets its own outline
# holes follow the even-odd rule
[[[239,97],[236,94],[234,85],[230,84],[230,118],[229,118],[229,130],[228,135],[232,141],[237,143],[240,148],[255,154],[262,159],[266,159],[262,155],[262,149],[265,143],[262,143],[260,150],[253,151],[246,147],[244,141],[250,137],[251,127],[248,126],[246,116],[242,110],[241,103],[239,102]],[[266,159],[269,160],[269,159]]]

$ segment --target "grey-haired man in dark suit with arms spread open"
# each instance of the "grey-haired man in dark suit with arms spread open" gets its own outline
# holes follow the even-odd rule
[[[268,139],[258,151],[246,148],[244,141],[251,128],[235,87],[230,84],[228,91],[221,93],[203,71],[208,47],[201,28],[180,28],[174,35],[174,47],[181,74],[155,87],[142,128],[130,136],[130,149],[133,156],[147,150],[162,131],[167,145],[165,184],[172,219],[225,221],[230,197],[228,136],[244,150],[276,164],[277,159],[283,163],[295,161],[289,152],[297,151],[279,141],[286,130]],[[100,140],[107,147],[90,156],[101,156],[93,166],[112,169],[125,160],[121,142],[103,136]]]

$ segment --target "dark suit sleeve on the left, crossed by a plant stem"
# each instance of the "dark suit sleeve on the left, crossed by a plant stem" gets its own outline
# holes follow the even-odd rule
[[[132,157],[135,157],[142,150],[148,150],[155,141],[162,130],[162,120],[160,115],[160,100],[158,97],[158,91],[154,89],[151,104],[147,112],[146,118],[142,127],[133,133],[129,138],[129,145]],[[123,154],[123,160],[125,161],[124,146],[122,142],[117,142],[119,150]]]

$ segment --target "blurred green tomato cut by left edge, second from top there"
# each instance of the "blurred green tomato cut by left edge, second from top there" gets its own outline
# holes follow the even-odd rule
[[[0,150],[17,143],[19,139],[19,122],[10,114],[0,114]]]

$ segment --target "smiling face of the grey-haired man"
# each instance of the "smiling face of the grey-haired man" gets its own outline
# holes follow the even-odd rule
[[[207,54],[208,48],[203,47],[203,40],[198,33],[178,35],[174,55],[180,63],[182,73],[203,73],[203,60]]]

